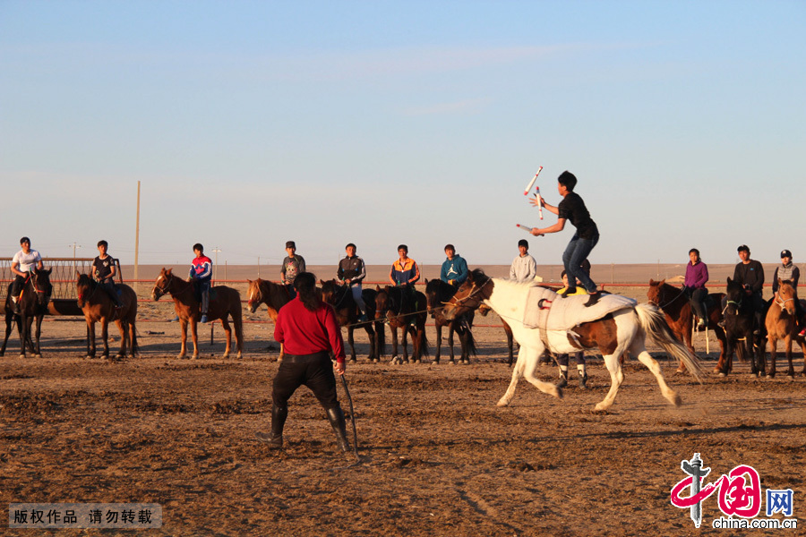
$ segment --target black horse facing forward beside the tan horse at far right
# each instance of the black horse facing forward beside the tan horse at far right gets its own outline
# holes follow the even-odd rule
[[[742,362],[750,359],[750,371],[753,375],[760,375],[764,371],[764,332],[765,327],[760,327],[761,334],[753,334],[755,312],[753,303],[747,294],[744,293],[742,284],[727,278],[727,305],[723,315],[725,316],[725,362],[719,371],[720,377],[725,377],[733,370],[733,352],[739,355]]]

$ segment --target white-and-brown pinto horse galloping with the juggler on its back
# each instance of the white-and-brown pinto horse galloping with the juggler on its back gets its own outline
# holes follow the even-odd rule
[[[621,359],[627,353],[637,355],[639,361],[655,375],[661,393],[670,403],[675,406],[681,404],[680,396],[666,385],[660,366],[647,353],[645,342],[647,336],[652,337],[658,345],[664,347],[668,354],[685,362],[689,372],[699,380],[702,368],[698,358],[690,354],[688,349],[673,336],[672,331],[666,325],[663,313],[658,311],[655,306],[651,304],[635,305],[632,301],[625,302],[619,309],[605,314],[601,319],[582,322],[579,326],[571,323],[570,328],[550,333],[554,330],[527,328],[523,323],[527,308],[525,297],[529,293],[529,286],[527,283],[487,277],[481,269],[476,268],[443,310],[445,316],[451,319],[485,303],[500,316],[505,317],[510,324],[512,333],[520,344],[520,350],[518,362],[515,363],[515,369],[512,371],[510,387],[498,401],[499,406],[510,404],[521,376],[540,391],[562,397],[560,388],[537,379],[535,376],[537,360],[546,345],[553,353],[572,353],[578,351],[579,347],[599,347],[604,355],[607,371],[610,371],[612,385],[604,399],[596,405],[596,410],[605,410],[613,405],[613,400],[624,379]],[[550,289],[541,287],[535,289],[539,289],[538,292],[544,295],[545,302],[587,301],[587,296],[584,295],[560,299],[559,295]],[[608,299],[600,299],[600,303],[603,300]]]

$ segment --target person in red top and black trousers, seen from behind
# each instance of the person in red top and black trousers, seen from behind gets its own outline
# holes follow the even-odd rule
[[[279,311],[274,339],[284,345],[285,355],[274,378],[271,392],[271,430],[258,432],[257,439],[272,448],[283,446],[283,426],[288,416],[288,399],[296,388],[307,386],[319,400],[336,433],[339,449],[349,451],[344,412],[336,397],[336,377],[344,374],[344,341],[336,313],[316,292],[316,277],[299,273],[294,280],[296,298]],[[336,356],[335,366],[330,353]]]

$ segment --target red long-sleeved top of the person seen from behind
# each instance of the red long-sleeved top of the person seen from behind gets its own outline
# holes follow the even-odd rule
[[[332,351],[337,362],[344,362],[341,328],[330,304],[322,303],[318,310],[310,311],[297,296],[278,312],[274,339],[283,344],[287,354]]]

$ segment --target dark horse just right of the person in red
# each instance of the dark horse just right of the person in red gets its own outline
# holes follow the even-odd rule
[[[358,304],[353,298],[353,292],[349,286],[342,286],[335,280],[322,281],[322,300],[333,306],[336,311],[336,321],[339,327],[347,327],[347,343],[350,344],[350,362],[356,362],[356,346],[353,339],[353,332],[356,327],[366,330],[366,336],[370,341],[370,354],[367,359],[370,362],[381,362],[381,354],[385,346],[385,330],[383,323],[375,319],[375,295],[373,289],[364,289],[361,293],[366,307],[366,316],[371,319],[364,322],[358,321],[360,311]],[[374,326],[373,326],[374,325]]]

